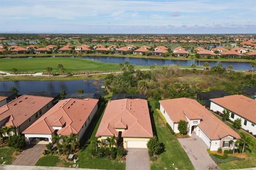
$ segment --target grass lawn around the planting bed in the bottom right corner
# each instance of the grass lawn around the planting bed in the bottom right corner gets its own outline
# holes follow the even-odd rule
[[[217,116],[218,118],[221,117],[214,114],[215,116]],[[230,127],[233,128],[233,124],[230,122],[226,122],[226,124]],[[252,167],[256,167],[256,139],[253,138],[251,135],[247,134],[246,132],[244,132],[243,130],[238,130],[238,133],[241,134],[245,134],[247,137],[251,138],[252,141],[252,146],[250,146],[251,152],[247,151],[247,160],[235,160],[233,162],[228,162],[228,163],[222,163],[219,164],[219,167],[221,169],[238,169],[238,168],[252,168]]]

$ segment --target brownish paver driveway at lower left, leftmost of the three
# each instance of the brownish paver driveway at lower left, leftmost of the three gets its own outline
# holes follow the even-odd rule
[[[44,149],[45,145],[42,144],[28,145],[25,150],[23,150],[21,154],[14,160],[12,165],[34,166],[41,157]]]

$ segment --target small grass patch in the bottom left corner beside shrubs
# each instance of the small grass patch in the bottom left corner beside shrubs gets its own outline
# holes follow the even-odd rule
[[[3,162],[5,162],[5,165],[11,165],[14,158],[12,157],[13,153],[15,152],[14,148],[10,148],[10,147],[2,147],[0,148],[0,164],[3,164]],[[4,158],[4,160],[2,160],[1,158]]]

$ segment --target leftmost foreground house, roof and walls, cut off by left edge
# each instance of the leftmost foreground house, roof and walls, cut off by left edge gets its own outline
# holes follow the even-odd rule
[[[16,134],[28,128],[52,107],[51,97],[23,95],[0,107],[0,127],[13,126]]]

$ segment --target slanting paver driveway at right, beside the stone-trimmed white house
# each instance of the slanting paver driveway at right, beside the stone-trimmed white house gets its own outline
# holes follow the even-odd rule
[[[206,151],[206,144],[195,133],[192,133],[190,138],[178,140],[183,149],[186,151],[195,169],[203,170],[209,169],[209,166],[217,166]]]

